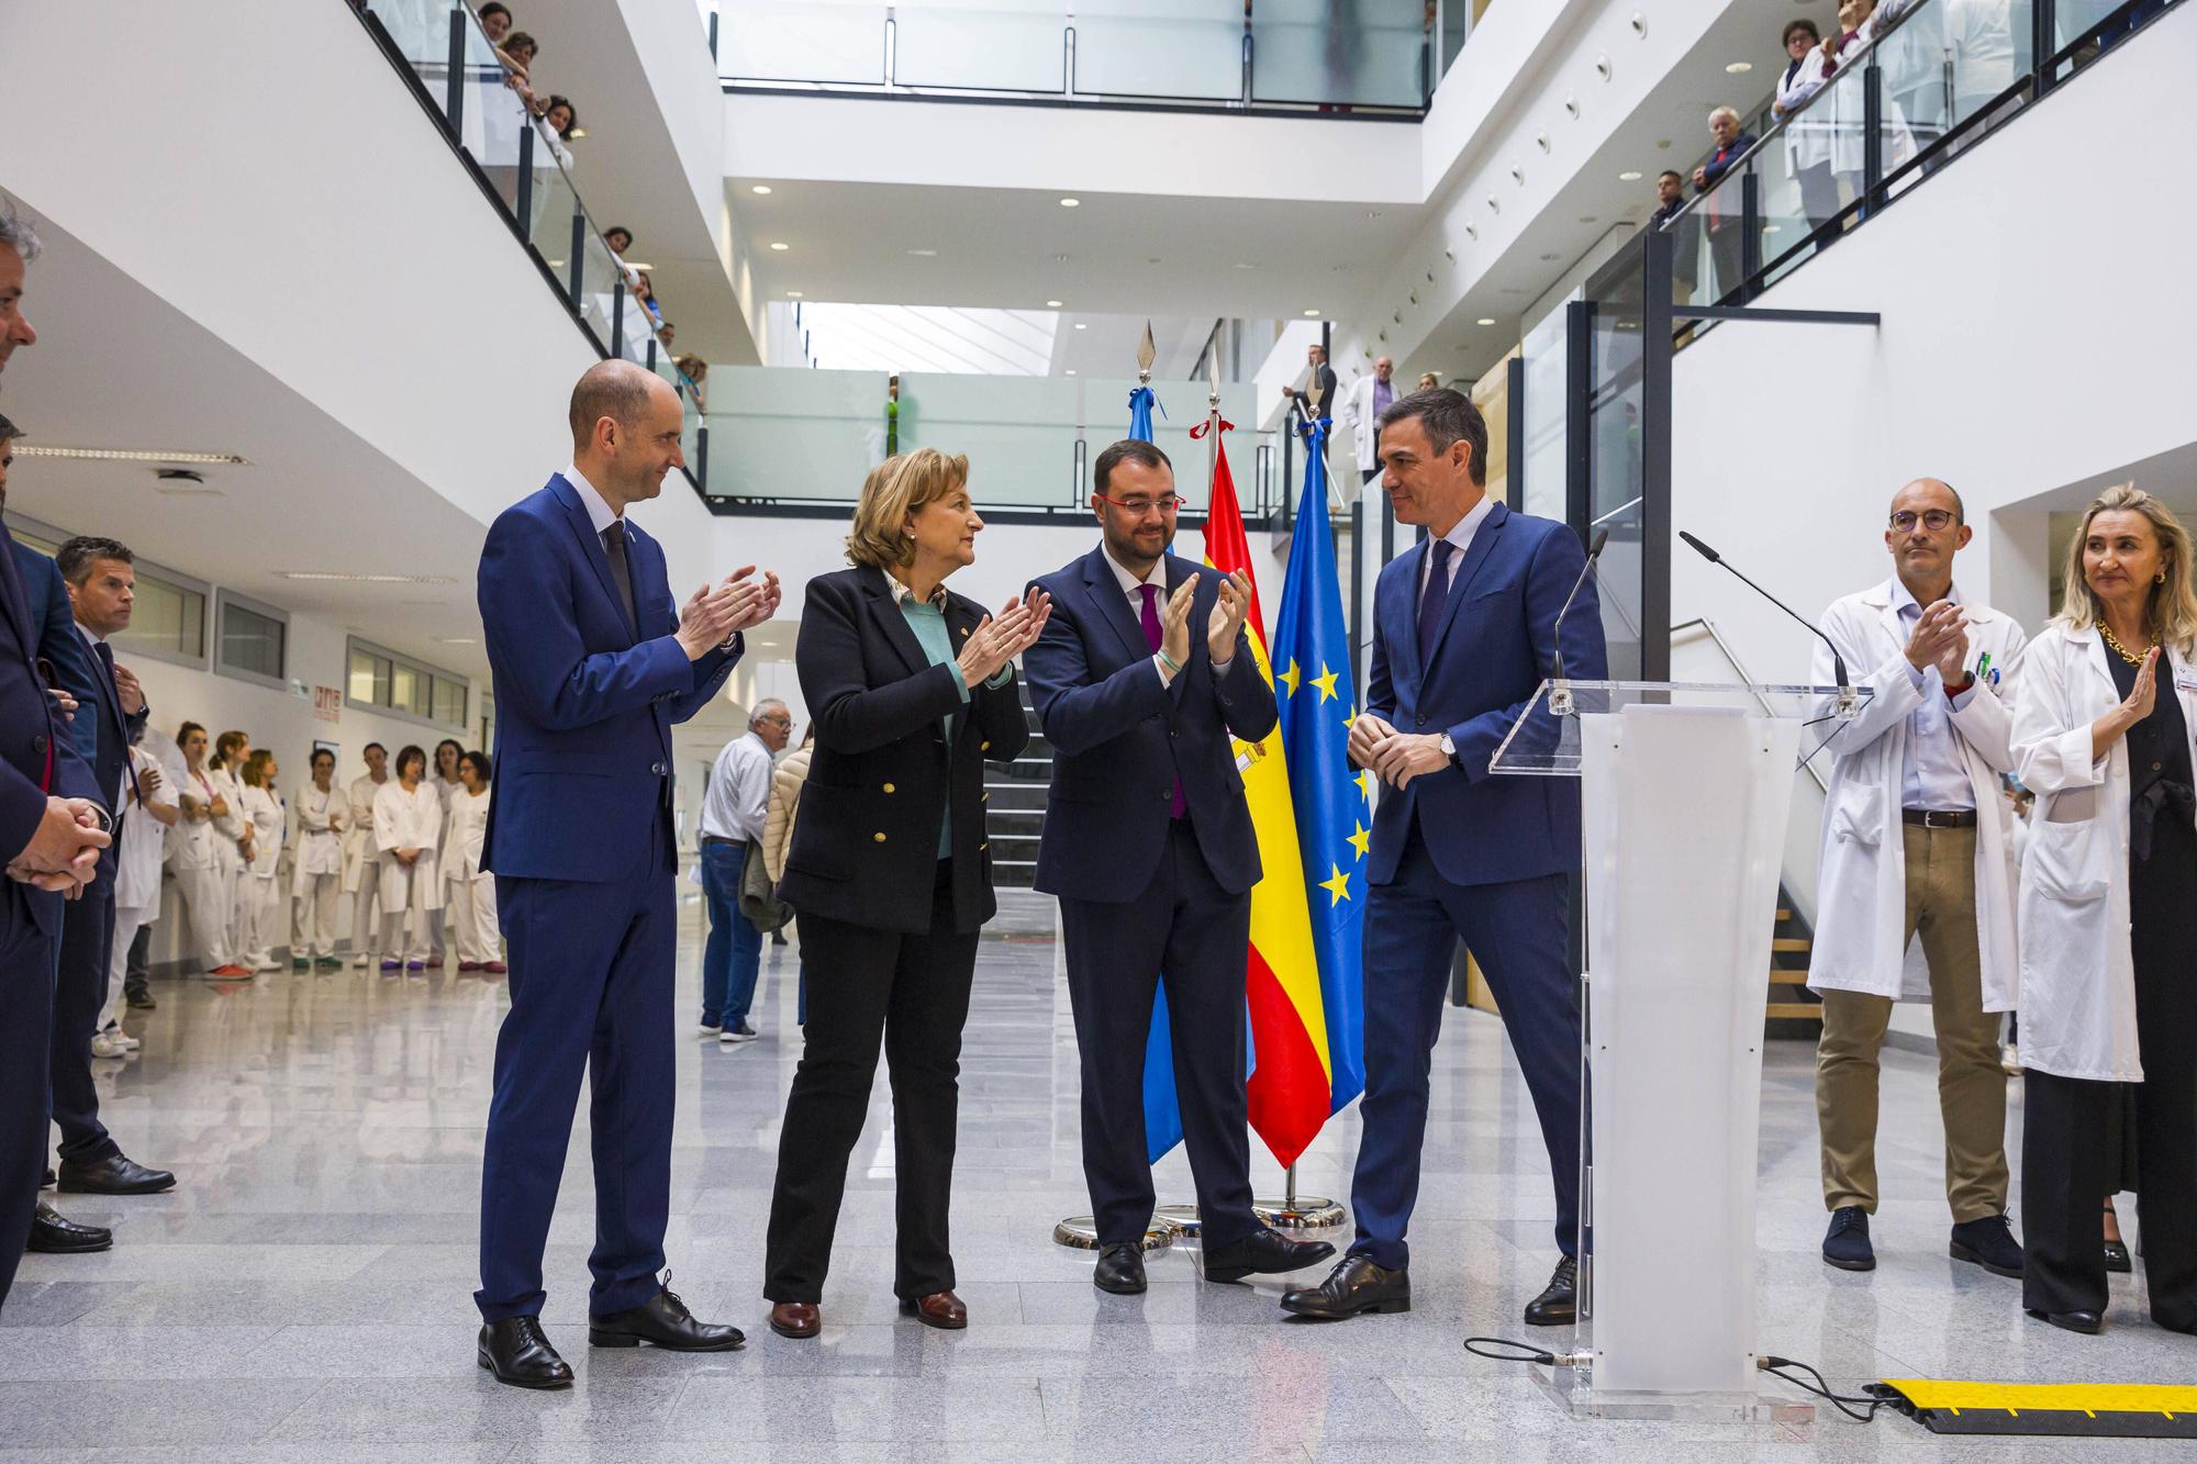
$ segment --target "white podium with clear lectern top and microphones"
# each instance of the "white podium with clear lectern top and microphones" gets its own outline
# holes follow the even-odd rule
[[[1544,681],[1496,750],[1582,783],[1580,1319],[1534,1365],[1573,1413],[1815,1413],[1755,1391],[1762,1007],[1795,767],[1865,699]]]

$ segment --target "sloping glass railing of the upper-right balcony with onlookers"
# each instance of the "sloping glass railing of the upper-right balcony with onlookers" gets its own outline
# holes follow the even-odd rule
[[[1918,0],[1663,224],[1679,306],[1740,303],[2182,0]]]

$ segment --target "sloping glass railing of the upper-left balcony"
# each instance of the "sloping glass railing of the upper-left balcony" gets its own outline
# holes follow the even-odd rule
[[[367,0],[360,15],[488,180],[527,251],[604,356],[655,369],[663,354],[646,306],[571,180],[571,156],[534,114],[464,0]],[[692,468],[690,468],[692,477]]]

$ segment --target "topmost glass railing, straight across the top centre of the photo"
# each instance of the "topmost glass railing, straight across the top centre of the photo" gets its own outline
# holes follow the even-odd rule
[[[701,0],[727,86],[1426,110],[1485,0]]]

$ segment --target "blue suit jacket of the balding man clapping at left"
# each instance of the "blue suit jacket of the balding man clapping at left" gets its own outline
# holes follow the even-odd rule
[[[672,725],[710,703],[740,659],[690,662],[663,550],[626,517],[639,626],[558,473],[497,514],[479,602],[497,688],[494,800],[481,868],[525,879],[631,879],[663,829],[670,857]]]

